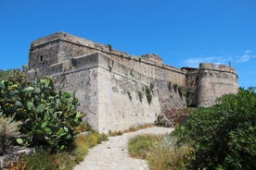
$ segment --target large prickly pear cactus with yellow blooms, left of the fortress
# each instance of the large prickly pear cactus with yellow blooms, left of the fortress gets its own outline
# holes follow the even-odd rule
[[[0,81],[0,113],[22,122],[23,144],[67,148],[73,128],[82,121],[83,115],[76,111],[78,100],[74,94],[56,91],[52,79],[27,82],[23,76]]]

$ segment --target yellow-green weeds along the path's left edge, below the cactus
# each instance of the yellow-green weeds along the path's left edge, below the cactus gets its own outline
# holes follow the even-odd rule
[[[105,134],[94,132],[87,136],[76,137],[67,151],[51,153],[43,148],[38,148],[34,154],[21,158],[19,163],[12,166],[11,169],[71,170],[73,166],[83,161],[89,148],[96,146],[103,140],[108,140],[108,137]]]

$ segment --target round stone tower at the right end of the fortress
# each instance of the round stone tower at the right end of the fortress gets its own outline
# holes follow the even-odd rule
[[[198,69],[197,106],[211,106],[217,97],[238,90],[234,68],[215,64],[200,64]]]

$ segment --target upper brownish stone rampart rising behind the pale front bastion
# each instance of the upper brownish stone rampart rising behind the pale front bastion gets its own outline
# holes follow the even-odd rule
[[[73,57],[100,52],[122,63],[124,67],[132,67],[135,71],[146,76],[153,76],[150,67],[165,68],[175,73],[185,74],[180,69],[162,64],[158,55],[142,55],[137,57],[112,49],[111,45],[104,45],[82,39],[65,32],[58,32],[45,38],[32,42],[30,50],[31,69],[40,69],[40,76],[49,75],[47,67],[54,66],[59,62],[69,60]],[[141,67],[143,65],[143,67]],[[173,77],[172,77],[173,78]],[[182,83],[182,82],[181,82]]]

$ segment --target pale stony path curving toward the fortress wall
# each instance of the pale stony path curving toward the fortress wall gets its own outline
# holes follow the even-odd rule
[[[153,127],[109,137],[108,141],[92,148],[83,162],[76,165],[73,170],[148,170],[147,161],[129,156],[128,140],[136,135],[165,134],[172,131],[173,128]]]

